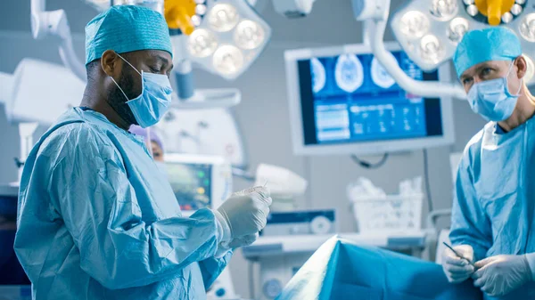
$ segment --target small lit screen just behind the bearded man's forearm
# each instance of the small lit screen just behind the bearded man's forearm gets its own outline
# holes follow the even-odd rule
[[[182,210],[211,205],[211,173],[208,164],[166,163],[169,182]]]

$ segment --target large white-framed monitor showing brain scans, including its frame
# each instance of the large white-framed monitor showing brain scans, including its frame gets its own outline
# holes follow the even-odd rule
[[[426,73],[397,44],[386,45],[409,77],[449,81],[449,66]],[[454,142],[448,97],[405,92],[367,45],[284,53],[293,151],[373,154]]]

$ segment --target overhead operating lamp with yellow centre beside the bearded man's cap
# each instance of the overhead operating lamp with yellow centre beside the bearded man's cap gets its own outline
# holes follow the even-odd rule
[[[213,98],[223,95],[237,104],[237,90],[194,91],[193,66],[227,80],[239,77],[268,44],[268,24],[245,0],[166,0],[165,17],[174,46],[177,96],[187,100],[182,104],[225,103]]]

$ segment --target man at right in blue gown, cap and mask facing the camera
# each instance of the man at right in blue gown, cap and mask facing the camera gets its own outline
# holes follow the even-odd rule
[[[535,299],[535,99],[513,31],[468,32],[454,55],[473,111],[489,123],[465,148],[457,171],[450,282],[474,280],[487,299]]]

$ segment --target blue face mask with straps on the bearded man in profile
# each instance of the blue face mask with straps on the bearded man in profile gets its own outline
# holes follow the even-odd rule
[[[119,57],[141,76],[142,92],[136,98],[129,100],[127,94],[123,92],[115,79],[111,77],[111,80],[127,98],[128,107],[132,110],[137,124],[143,128],[153,126],[165,115],[171,103],[173,89],[171,88],[169,77],[161,74],[145,73],[144,71],[139,72],[130,62],[120,55]]]

